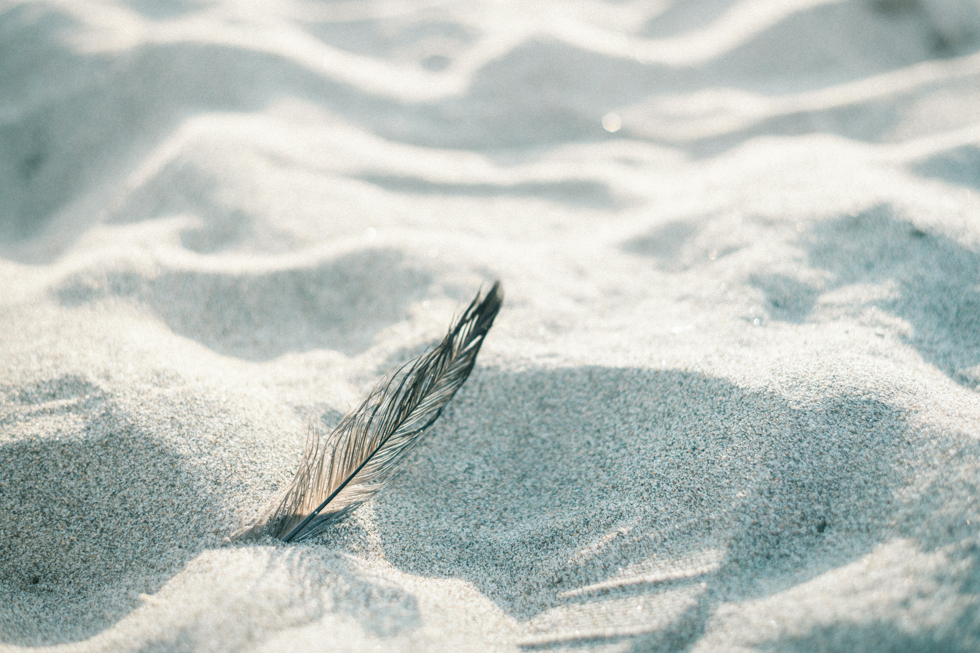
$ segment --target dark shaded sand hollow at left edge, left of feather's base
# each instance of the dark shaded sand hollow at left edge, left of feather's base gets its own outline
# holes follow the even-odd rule
[[[213,480],[113,396],[72,376],[0,390],[0,424],[20,435],[0,445],[0,578],[18,597],[0,600],[0,640],[91,636],[215,543]]]

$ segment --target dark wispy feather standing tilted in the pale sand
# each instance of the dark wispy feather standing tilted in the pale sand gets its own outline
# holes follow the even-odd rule
[[[235,536],[309,539],[384,488],[466,382],[503,299],[500,282],[477,293],[442,342],[382,379],[325,440],[311,429],[292,483]]]

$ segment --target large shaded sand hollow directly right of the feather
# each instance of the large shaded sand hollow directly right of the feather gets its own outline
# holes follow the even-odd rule
[[[598,615],[607,601],[706,583],[665,625],[613,637],[672,650],[723,601],[921,536],[895,498],[915,441],[901,412],[861,393],[831,390],[800,406],[673,370],[481,370],[419,464],[376,499],[377,524],[400,569],[473,583],[520,622],[575,604]],[[953,541],[963,528],[937,537]],[[843,562],[817,555],[828,548],[846,549]],[[724,551],[710,573],[582,591],[623,567],[708,549]],[[753,581],[764,589],[746,594]],[[609,638],[552,634],[527,647]]]

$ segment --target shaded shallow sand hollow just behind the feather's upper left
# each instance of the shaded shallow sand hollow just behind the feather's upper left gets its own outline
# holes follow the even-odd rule
[[[263,361],[288,352],[367,350],[406,318],[432,274],[397,250],[364,250],[311,267],[266,272],[166,270],[152,279],[79,276],[58,291],[65,305],[133,299],[172,331],[218,353]]]

